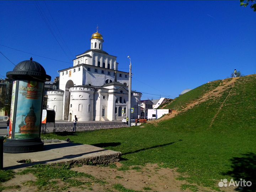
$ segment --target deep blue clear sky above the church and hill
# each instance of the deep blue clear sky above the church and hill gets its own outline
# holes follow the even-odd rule
[[[256,73],[256,13],[239,0],[0,1],[0,23],[0,51],[14,64],[32,56],[52,79],[90,49],[98,25],[119,70],[129,71],[130,55],[142,99],[173,98],[235,68]],[[0,66],[0,78],[14,68],[1,54]]]

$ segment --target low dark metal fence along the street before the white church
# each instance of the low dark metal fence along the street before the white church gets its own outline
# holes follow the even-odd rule
[[[100,129],[115,129],[128,127],[126,123],[122,122],[107,122],[107,123],[77,123],[76,131],[91,131]],[[74,128],[73,123],[59,123],[59,124],[42,124],[41,133],[50,132],[72,132]]]

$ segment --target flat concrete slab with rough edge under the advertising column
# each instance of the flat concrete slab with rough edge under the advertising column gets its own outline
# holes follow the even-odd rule
[[[121,153],[100,147],[60,141],[44,143],[44,150],[34,153],[4,153],[4,169],[21,169],[35,164],[109,164],[119,161]],[[17,161],[24,160],[25,163]],[[31,162],[26,163],[26,160]]]

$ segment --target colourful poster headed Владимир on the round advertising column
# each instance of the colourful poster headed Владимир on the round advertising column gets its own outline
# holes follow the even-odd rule
[[[43,82],[18,81],[14,139],[33,139],[40,135]]]

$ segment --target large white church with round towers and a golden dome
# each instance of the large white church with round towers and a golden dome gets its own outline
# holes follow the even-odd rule
[[[127,116],[129,73],[118,70],[117,57],[102,50],[103,37],[91,36],[91,49],[76,55],[73,67],[59,70],[59,90],[47,91],[55,120],[114,121]],[[142,93],[132,91],[131,107]],[[131,117],[137,118],[137,108]]]

